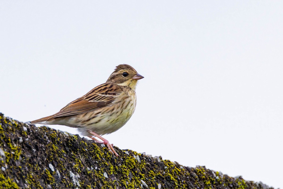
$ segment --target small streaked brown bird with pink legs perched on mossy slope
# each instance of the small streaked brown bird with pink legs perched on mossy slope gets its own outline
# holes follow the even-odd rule
[[[117,131],[130,119],[136,108],[136,84],[142,78],[130,65],[118,65],[106,83],[67,104],[58,113],[31,123],[78,128],[83,136],[104,143],[112,154],[119,156],[101,135]]]

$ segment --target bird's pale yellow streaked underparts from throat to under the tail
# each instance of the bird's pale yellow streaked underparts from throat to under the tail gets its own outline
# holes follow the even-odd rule
[[[78,131],[80,131],[83,136],[88,137],[92,136],[88,132],[89,130],[98,135],[113,133],[124,126],[135,111],[136,84],[137,80],[132,80],[130,83],[125,82],[119,84],[120,86],[129,87],[123,87],[123,92],[121,92],[111,105],[108,105],[107,107],[91,112],[76,114],[74,116],[67,116],[61,119],[57,118],[50,123],[45,122],[42,124],[58,124],[78,128]]]

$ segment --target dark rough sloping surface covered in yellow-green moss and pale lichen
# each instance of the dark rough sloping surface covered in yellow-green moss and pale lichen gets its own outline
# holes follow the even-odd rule
[[[269,187],[203,167],[106,147],[0,113],[0,188],[223,188]]]

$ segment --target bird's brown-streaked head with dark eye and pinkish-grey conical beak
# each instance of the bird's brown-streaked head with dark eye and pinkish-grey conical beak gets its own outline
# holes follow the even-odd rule
[[[119,86],[129,86],[132,89],[136,88],[136,84],[143,76],[130,65],[120,64],[116,66],[115,71],[110,75],[106,82],[115,83]]]

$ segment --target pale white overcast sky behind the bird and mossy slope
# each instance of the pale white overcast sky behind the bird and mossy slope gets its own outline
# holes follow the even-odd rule
[[[56,113],[127,63],[121,149],[283,187],[283,1],[1,1],[0,111]],[[52,128],[76,134],[66,126]]]

